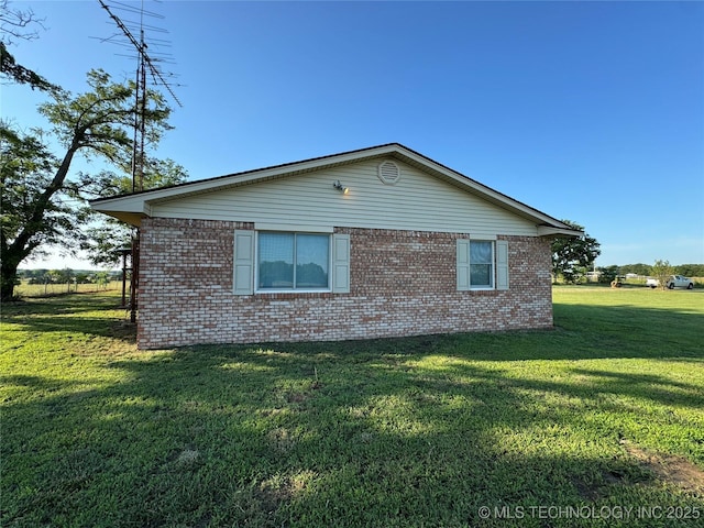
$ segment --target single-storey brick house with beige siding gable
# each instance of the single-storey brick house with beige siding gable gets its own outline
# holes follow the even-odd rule
[[[396,143],[91,206],[140,228],[143,349],[551,328],[582,234]]]

